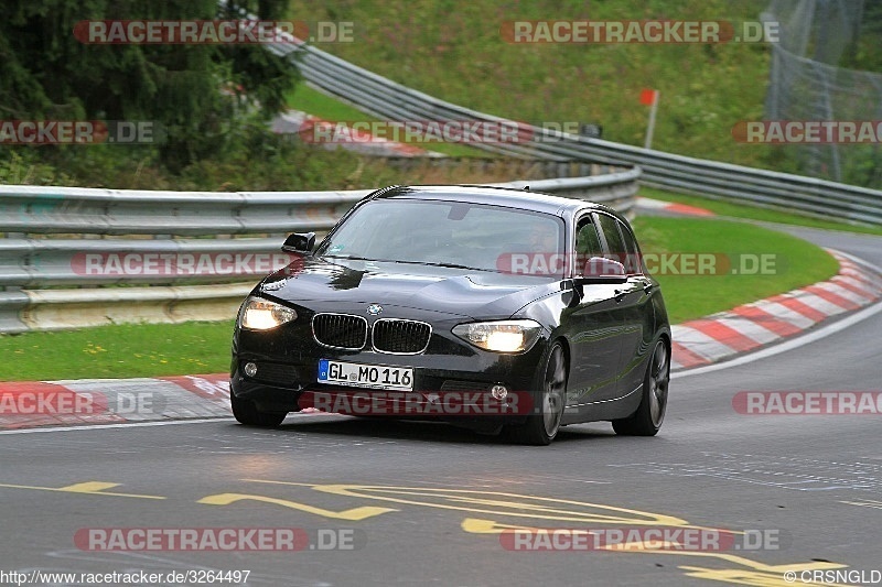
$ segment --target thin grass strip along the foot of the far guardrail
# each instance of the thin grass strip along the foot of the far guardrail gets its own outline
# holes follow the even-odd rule
[[[639,195],[647,198],[663,199],[665,202],[688,204],[689,206],[697,206],[699,208],[711,210],[720,216],[729,216],[732,218],[746,218],[750,220],[761,220],[764,222],[798,225],[811,228],[824,228],[827,230],[845,230],[849,232],[882,236],[882,227],[850,225],[846,222],[838,222],[836,220],[813,218],[810,216],[793,214],[778,209],[760,208],[757,206],[750,206],[746,204],[733,204],[731,202],[722,202],[719,199],[711,199],[700,196],[687,196],[685,194],[665,192],[652,187],[642,186]]]

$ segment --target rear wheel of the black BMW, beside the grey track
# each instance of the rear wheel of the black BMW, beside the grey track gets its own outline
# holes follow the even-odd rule
[[[670,350],[664,340],[659,340],[646,366],[641,404],[631,416],[613,420],[615,433],[624,436],[655,436],[658,434],[668,405],[669,383]]]

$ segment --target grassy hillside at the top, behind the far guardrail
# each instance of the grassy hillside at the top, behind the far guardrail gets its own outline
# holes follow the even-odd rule
[[[351,43],[316,46],[405,86],[526,122],[594,122],[603,138],[643,145],[643,88],[660,91],[653,146],[795,171],[787,148],[740,144],[739,121],[761,120],[771,48],[723,44],[510,44],[506,21],[679,19],[756,21],[767,0],[364,0],[345,8],[290,0],[289,17],[351,21]]]

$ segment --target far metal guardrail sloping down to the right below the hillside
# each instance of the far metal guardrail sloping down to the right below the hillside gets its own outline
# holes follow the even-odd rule
[[[343,98],[376,117],[394,121],[506,119],[456,106],[413,90],[305,44],[268,46],[289,56],[303,77],[318,88]],[[510,122],[510,121],[509,121]],[[814,177],[732,165],[590,139],[519,123],[531,140],[514,143],[474,143],[507,156],[590,160],[639,165],[644,184],[709,197],[744,200],[809,216],[856,224],[882,224],[882,192]]]

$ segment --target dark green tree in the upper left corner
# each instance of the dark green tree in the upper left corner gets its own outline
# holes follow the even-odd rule
[[[87,44],[79,21],[276,20],[284,0],[12,0],[0,19],[0,119],[150,120],[170,169],[223,149],[243,111],[277,112],[299,76],[260,44]]]

